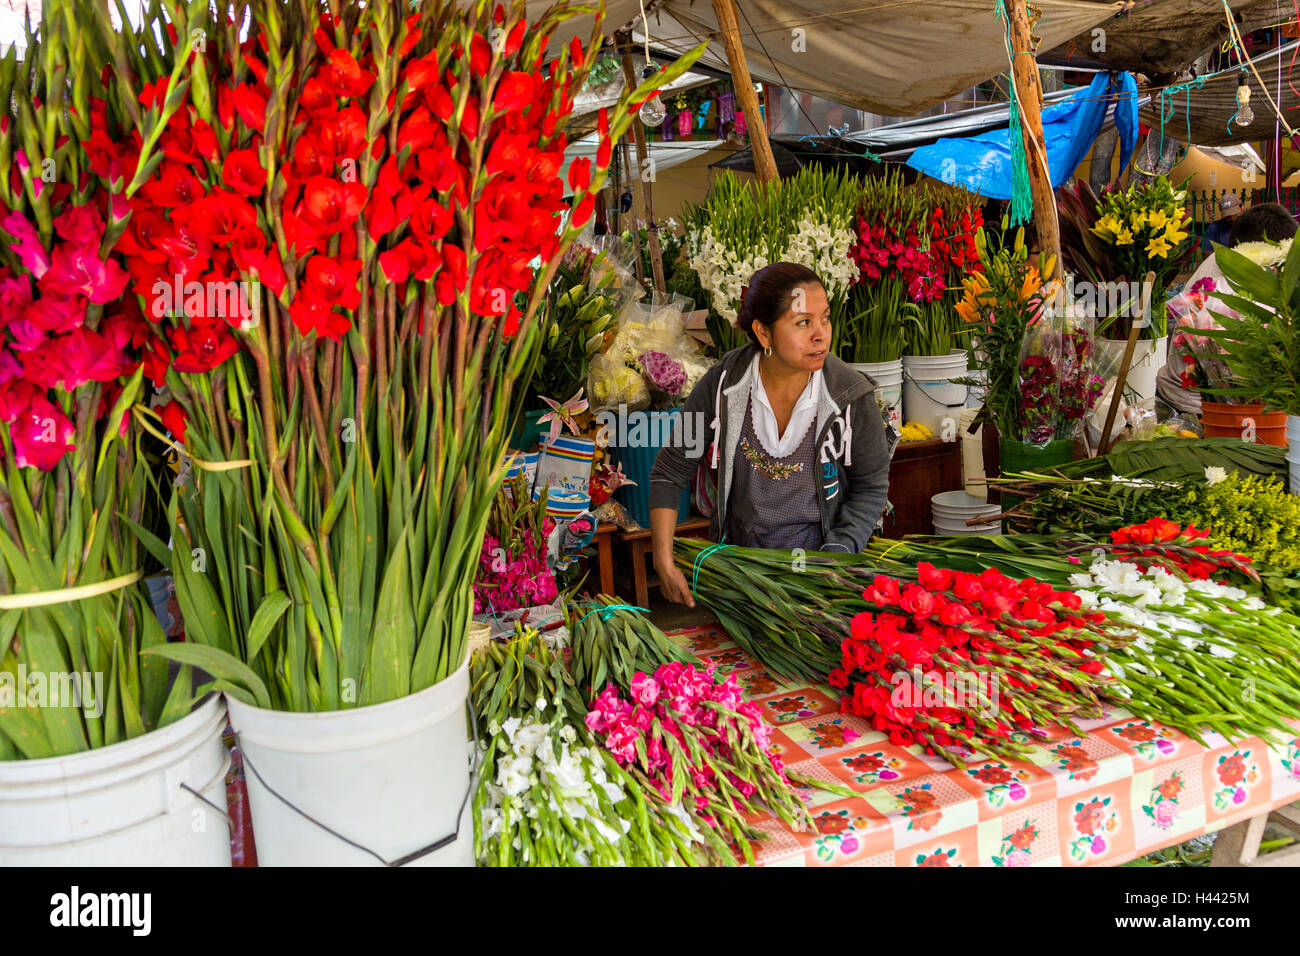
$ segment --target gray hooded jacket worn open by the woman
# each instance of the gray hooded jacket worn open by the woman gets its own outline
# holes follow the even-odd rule
[[[750,373],[755,345],[727,352],[692,390],[676,423],[672,440],[659,451],[650,472],[650,507],[676,510],[684,488],[690,486],[701,466],[688,454],[690,434],[705,433],[710,445],[705,464],[718,470],[718,502],[711,537],[722,541],[727,527],[727,496],[731,492],[736,449],[749,403]],[[818,501],[822,506],[823,550],[858,553],[875,532],[889,492],[889,460],[898,433],[885,429],[870,377],[828,355],[822,368],[818,397],[816,449],[822,473]],[[682,434],[682,429],[694,429]]]

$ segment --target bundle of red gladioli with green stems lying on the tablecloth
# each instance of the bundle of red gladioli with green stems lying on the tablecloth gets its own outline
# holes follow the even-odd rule
[[[780,662],[812,646],[824,666],[835,648],[816,679],[844,691],[841,710],[954,762],[1014,758],[1035,727],[1100,717],[1102,658],[1124,641],[1078,596],[997,570],[890,576],[855,555],[676,544],[699,600],[764,665],[789,674]]]

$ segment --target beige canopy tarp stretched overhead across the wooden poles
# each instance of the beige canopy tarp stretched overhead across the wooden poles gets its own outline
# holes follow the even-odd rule
[[[547,4],[529,4],[530,13]],[[1046,51],[1097,23],[1123,4],[1039,0],[1035,31]],[[607,0],[604,30],[634,23],[637,0]],[[646,0],[650,43],[684,53],[710,40],[702,66],[729,70],[710,0]],[[1008,68],[1006,23],[992,0],[742,0],[740,33],[754,79],[812,92],[846,107],[911,116]],[[584,35],[590,21],[569,21],[556,39]]]

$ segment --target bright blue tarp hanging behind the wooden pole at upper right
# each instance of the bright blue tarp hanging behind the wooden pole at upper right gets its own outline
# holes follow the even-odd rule
[[[1112,78],[1118,92],[1108,99]],[[1063,103],[1043,111],[1043,137],[1048,148],[1052,186],[1070,181],[1075,168],[1088,155],[1101,131],[1106,112],[1114,103],[1119,131],[1119,164],[1128,165],[1138,142],[1138,81],[1131,73],[1097,73],[1092,83],[1074,90]],[[978,193],[987,199],[1011,198],[1010,129],[978,133],[974,137],[940,139],[922,146],[907,165],[936,179]]]

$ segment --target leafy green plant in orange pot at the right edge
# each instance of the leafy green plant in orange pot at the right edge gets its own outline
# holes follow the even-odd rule
[[[1269,248],[1256,248],[1265,245]],[[1226,367],[1230,375],[1217,382],[1219,389],[1208,390],[1206,395],[1222,397],[1230,403],[1248,402],[1228,405],[1230,414],[1236,416],[1236,421],[1230,423],[1238,429],[1232,434],[1288,446],[1291,490],[1300,493],[1300,334],[1296,328],[1300,251],[1290,239],[1277,245],[1245,243],[1231,250],[1219,248],[1217,261],[1232,291],[1213,290],[1226,308],[1214,313],[1218,328],[1202,329],[1201,336],[1219,354],[1213,364],[1212,360],[1196,362],[1193,368],[1201,372],[1217,364]],[[1190,354],[1197,354],[1195,345],[1188,342]],[[1217,402],[1208,399],[1201,402],[1201,408],[1206,434],[1210,434],[1218,427],[1212,419],[1221,410]]]

